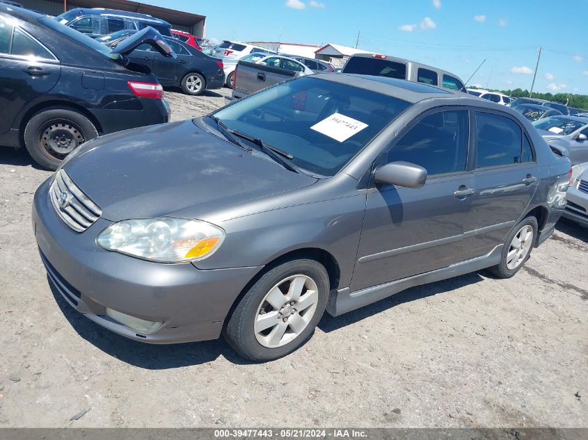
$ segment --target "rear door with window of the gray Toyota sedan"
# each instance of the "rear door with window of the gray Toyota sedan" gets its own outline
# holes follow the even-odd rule
[[[537,190],[539,168],[531,142],[516,120],[475,111],[475,247],[490,252],[525,213]]]

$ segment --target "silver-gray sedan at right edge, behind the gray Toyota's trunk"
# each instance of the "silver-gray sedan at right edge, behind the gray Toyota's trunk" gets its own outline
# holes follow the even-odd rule
[[[572,165],[588,162],[588,118],[552,116],[533,122],[549,145],[564,147]]]

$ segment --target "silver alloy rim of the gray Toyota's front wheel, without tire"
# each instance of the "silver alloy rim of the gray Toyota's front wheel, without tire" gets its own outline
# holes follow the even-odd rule
[[[319,289],[307,275],[292,275],[273,286],[262,300],[255,316],[257,342],[278,348],[294,341],[317,310]]]

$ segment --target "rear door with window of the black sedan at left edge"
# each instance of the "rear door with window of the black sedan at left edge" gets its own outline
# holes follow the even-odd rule
[[[56,85],[61,64],[40,42],[0,16],[0,133],[19,111]]]

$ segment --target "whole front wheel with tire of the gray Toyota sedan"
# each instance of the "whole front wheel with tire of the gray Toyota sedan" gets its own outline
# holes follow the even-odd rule
[[[241,298],[225,326],[225,339],[251,361],[288,355],[312,336],[324,313],[328,291],[328,273],[317,261],[280,264]]]

